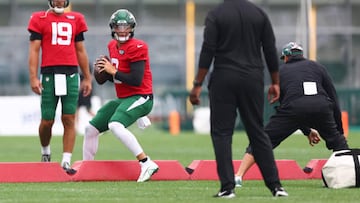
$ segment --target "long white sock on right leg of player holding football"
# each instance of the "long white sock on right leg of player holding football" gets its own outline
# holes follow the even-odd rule
[[[136,157],[143,152],[138,140],[125,126],[119,122],[109,123],[111,132],[134,154]]]

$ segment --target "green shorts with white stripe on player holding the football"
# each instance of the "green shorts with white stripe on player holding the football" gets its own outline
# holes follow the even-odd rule
[[[109,101],[102,106],[90,121],[99,132],[109,129],[108,123],[112,121],[120,122],[125,127],[129,127],[138,118],[149,114],[153,107],[153,100],[149,96],[131,96],[127,98],[117,98]]]

